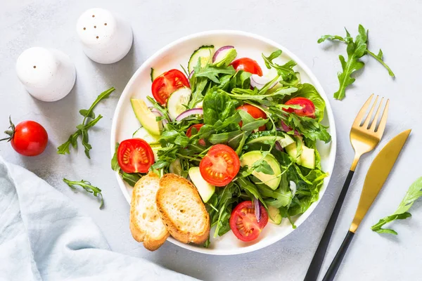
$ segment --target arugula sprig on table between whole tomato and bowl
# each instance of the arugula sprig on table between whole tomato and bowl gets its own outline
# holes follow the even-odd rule
[[[103,91],[103,93],[100,93],[96,100],[94,100],[94,103],[92,103],[88,110],[79,110],[79,113],[84,117],[84,119],[81,124],[76,126],[77,131],[70,135],[68,141],[58,146],[58,154],[70,154],[70,145],[72,145],[73,148],[77,148],[77,138],[82,136],[82,145],[84,145],[85,155],[91,159],[89,156],[89,150],[92,149],[92,146],[89,144],[88,129],[93,127],[98,121],[100,121],[101,118],[103,118],[101,115],[98,115],[98,117],[95,118],[94,108],[101,100],[108,98],[113,91],[115,91],[114,87],[111,87],[107,91]],[[91,120],[89,121],[89,119]]]

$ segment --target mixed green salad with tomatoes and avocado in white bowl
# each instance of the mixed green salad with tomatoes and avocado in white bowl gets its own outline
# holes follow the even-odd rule
[[[184,72],[151,69],[152,106],[131,100],[141,128],[116,145],[113,169],[132,186],[148,171],[188,178],[214,237],[232,230],[248,242],[283,218],[295,228],[328,176],[316,142],[331,136],[324,99],[293,60],[276,63],[281,53],[238,58],[234,46],[202,46]]]

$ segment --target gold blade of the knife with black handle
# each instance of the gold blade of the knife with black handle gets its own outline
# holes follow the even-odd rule
[[[371,207],[373,200],[375,200],[378,192],[380,192],[383,187],[410,132],[411,129],[403,131],[392,138],[378,155],[376,155],[375,159],[373,159],[371,166],[369,166],[368,173],[366,174],[364,188],[362,189],[352,225],[349,228],[352,233],[356,232],[366,212],[369,210],[369,207]]]

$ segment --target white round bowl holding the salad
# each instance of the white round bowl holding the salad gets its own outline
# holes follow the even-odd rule
[[[201,32],[181,38],[162,48],[160,51],[151,56],[151,58],[148,58],[148,60],[146,60],[146,62],[143,63],[138,70],[136,70],[135,74],[124,88],[113,117],[110,143],[112,155],[115,152],[115,143],[124,141],[127,138],[132,138],[132,133],[139,128],[139,122],[136,120],[136,117],[132,112],[130,98],[146,98],[146,96],[151,96],[151,67],[154,68],[155,73],[162,73],[167,70],[171,70],[172,68],[180,70],[180,65],[187,65],[188,59],[194,50],[200,46],[210,44],[214,45],[216,48],[225,45],[235,46],[238,51],[238,58],[249,57],[257,60],[257,62],[262,66],[262,70],[265,69],[265,66],[261,59],[261,53],[269,54],[276,49],[281,49],[283,51],[281,60],[288,60],[291,58],[298,63],[297,70],[300,72],[302,82],[308,82],[314,85],[316,90],[319,91],[322,98],[326,101],[326,116],[324,117],[324,124],[329,125],[328,131],[332,136],[332,140],[331,143],[328,144],[317,143],[317,148],[321,154],[321,165],[324,171],[331,174],[335,161],[335,124],[333,111],[331,110],[328,98],[321,84],[319,84],[319,81],[316,79],[314,74],[312,74],[311,70],[309,70],[309,67],[302,63],[296,55],[280,44],[255,34],[231,30]],[[126,197],[127,202],[130,202],[132,188],[127,185],[127,183],[124,183],[117,173],[116,176],[124,197]],[[300,224],[305,221],[312,211],[314,211],[316,205],[321,200],[322,195],[324,195],[329,180],[330,176],[328,176],[324,181],[324,185],[319,192],[319,200],[314,202],[304,214],[295,218],[296,226],[300,226]],[[198,251],[204,254],[232,255],[243,254],[267,247],[268,245],[281,240],[283,237],[286,237],[286,235],[292,233],[293,230],[294,229],[290,226],[288,220],[283,219],[279,226],[268,223],[267,227],[262,230],[260,237],[257,240],[248,243],[238,240],[231,231],[222,237],[211,239],[209,248],[204,248],[194,244],[183,244],[174,240],[172,237],[169,237],[168,240],[185,249]],[[213,230],[211,230],[211,235],[213,235]]]

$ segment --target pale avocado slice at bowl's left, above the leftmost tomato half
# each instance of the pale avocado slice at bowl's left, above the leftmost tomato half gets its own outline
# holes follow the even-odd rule
[[[155,121],[155,115],[143,100],[137,98],[131,98],[130,103],[132,104],[132,109],[134,110],[136,119],[141,123],[143,128],[153,135],[160,136],[162,131],[162,122]]]

